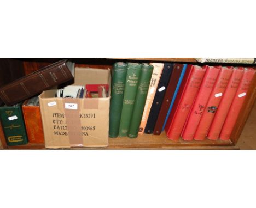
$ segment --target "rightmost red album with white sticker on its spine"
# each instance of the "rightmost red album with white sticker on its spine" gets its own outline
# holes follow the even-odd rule
[[[229,113],[223,125],[222,132],[220,133],[220,139],[228,140],[230,138],[230,134],[236,124],[237,117],[242,109],[249,85],[252,82],[254,74],[255,70],[253,68],[245,69],[241,82],[237,88],[236,95],[229,109]]]

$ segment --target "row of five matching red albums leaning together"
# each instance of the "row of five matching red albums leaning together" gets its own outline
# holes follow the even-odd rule
[[[177,140],[230,138],[255,70],[189,65],[166,125]]]

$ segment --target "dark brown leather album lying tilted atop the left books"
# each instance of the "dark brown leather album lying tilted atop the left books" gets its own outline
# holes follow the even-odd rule
[[[0,88],[0,100],[6,105],[26,100],[74,78],[74,63],[61,60]]]

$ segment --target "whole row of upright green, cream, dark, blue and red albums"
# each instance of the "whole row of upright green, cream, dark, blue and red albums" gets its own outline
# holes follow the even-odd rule
[[[115,63],[109,137],[228,140],[242,111],[253,68]]]

